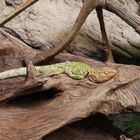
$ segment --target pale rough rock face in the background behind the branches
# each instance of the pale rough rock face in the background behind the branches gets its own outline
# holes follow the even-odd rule
[[[134,0],[123,1],[124,5],[132,11],[137,12],[139,7]],[[9,22],[6,27],[14,30],[19,38],[23,39],[32,47],[43,47],[50,49],[60,42],[75,22],[82,2],[79,1],[47,1],[40,0],[34,6]],[[0,3],[1,17],[12,11],[12,7],[6,6],[4,1]],[[5,8],[6,7],[6,8]],[[112,43],[115,54],[126,58],[139,59],[139,35],[124,23],[116,15],[104,12],[107,33]],[[3,19],[3,18],[1,18]],[[100,30],[96,13],[92,12],[86,23],[70,45],[71,51],[76,54],[82,50],[84,54],[100,58]],[[76,49],[73,49],[75,48]],[[119,57],[118,55],[116,57]],[[124,57],[124,58],[125,58]]]

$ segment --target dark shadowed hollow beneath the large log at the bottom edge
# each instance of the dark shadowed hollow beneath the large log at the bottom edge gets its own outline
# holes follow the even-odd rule
[[[120,132],[104,123],[105,120],[103,120],[104,118],[100,115],[88,117],[45,136],[43,140],[116,140],[115,136],[117,137]],[[102,129],[106,125],[108,125],[107,129],[114,129],[115,134],[113,131],[112,134],[108,134],[107,129]]]

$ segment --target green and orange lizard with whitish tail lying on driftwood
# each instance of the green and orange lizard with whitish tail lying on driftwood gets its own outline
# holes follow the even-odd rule
[[[50,77],[57,74],[67,74],[75,80],[81,80],[88,77],[89,80],[102,83],[110,80],[117,74],[117,70],[110,67],[92,67],[86,63],[67,61],[51,65],[35,66],[41,75]],[[0,73],[0,80],[25,76],[26,67],[7,70]]]

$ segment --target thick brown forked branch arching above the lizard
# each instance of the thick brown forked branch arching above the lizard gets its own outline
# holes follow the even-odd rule
[[[76,20],[72,30],[69,32],[68,36],[58,45],[58,47],[54,48],[53,50],[48,51],[47,53],[44,52],[44,54],[42,54],[43,57],[41,57],[41,59],[50,61],[57,54],[59,54],[62,50],[64,50],[72,42],[73,38],[75,37],[76,33],[80,30],[80,28],[84,24],[86,18],[90,14],[90,12],[93,11],[98,6],[101,6],[101,7],[105,8],[106,10],[109,10],[109,11],[115,13],[122,20],[124,20],[127,24],[132,26],[136,30],[137,33],[140,34],[140,17],[138,15],[136,15],[133,11],[131,11],[131,12],[128,11],[123,6],[123,4],[121,4],[118,0],[114,0],[114,1],[107,0],[106,2],[104,2],[104,0],[100,0],[100,1],[85,0],[83,7],[77,17],[77,20]],[[100,19],[99,19],[99,21],[100,21]],[[105,29],[104,29],[104,31],[105,31]],[[105,33],[105,32],[103,33],[103,30],[101,32],[102,32],[102,34]],[[107,41],[108,40],[107,36],[105,36],[105,38]],[[107,43],[107,45],[109,45],[109,44]],[[107,50],[108,50],[109,54],[112,54],[110,47]],[[108,59],[112,60],[111,57],[112,56],[110,55]]]

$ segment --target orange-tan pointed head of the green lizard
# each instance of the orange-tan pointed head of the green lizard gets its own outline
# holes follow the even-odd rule
[[[89,71],[88,78],[96,83],[102,83],[112,79],[118,71],[110,67],[96,68]]]

